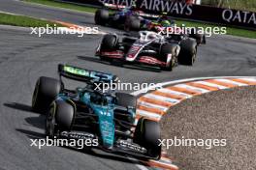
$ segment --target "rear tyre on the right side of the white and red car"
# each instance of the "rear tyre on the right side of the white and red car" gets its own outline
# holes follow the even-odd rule
[[[185,39],[180,42],[178,62],[182,65],[193,66],[197,56],[197,42],[194,39]]]

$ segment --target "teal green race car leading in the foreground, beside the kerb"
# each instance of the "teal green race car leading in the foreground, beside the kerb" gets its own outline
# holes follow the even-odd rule
[[[49,138],[97,139],[95,147],[107,152],[160,158],[159,124],[142,117],[135,126],[137,99],[95,88],[116,81],[115,75],[68,65],[59,65],[58,73],[59,79],[40,77],[32,99],[33,110],[47,114]],[[84,87],[67,89],[63,77],[80,81]]]

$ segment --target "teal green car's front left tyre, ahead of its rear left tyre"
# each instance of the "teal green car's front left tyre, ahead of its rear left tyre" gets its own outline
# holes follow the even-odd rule
[[[48,110],[46,135],[53,138],[58,130],[70,130],[75,112],[75,105],[64,100],[53,101]]]

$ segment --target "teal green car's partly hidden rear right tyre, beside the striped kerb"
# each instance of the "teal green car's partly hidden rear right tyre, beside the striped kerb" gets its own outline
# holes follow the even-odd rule
[[[115,96],[117,99],[117,105],[136,108],[137,98],[135,96],[125,93],[115,93]]]

